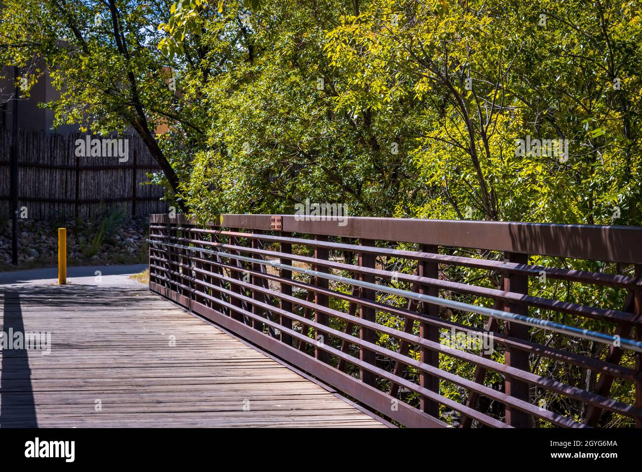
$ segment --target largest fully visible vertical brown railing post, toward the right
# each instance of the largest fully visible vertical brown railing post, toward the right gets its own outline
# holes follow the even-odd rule
[[[507,252],[505,254],[505,261],[517,264],[528,264],[528,254]],[[506,292],[523,293],[524,295],[528,295],[528,276],[507,272],[504,277],[504,290]],[[515,313],[517,315],[528,315],[528,307],[513,303],[505,304],[504,311],[509,311],[510,313]],[[528,340],[528,326],[506,322],[505,334],[510,337]],[[514,349],[514,347],[507,346],[505,351],[505,362],[506,365],[510,365],[510,367],[530,372],[528,353],[525,351],[519,351]],[[528,401],[528,383],[514,380],[507,376],[504,381],[504,385],[505,393],[507,395]],[[506,424],[510,424],[510,426],[514,426],[516,428],[528,428],[530,426],[528,414],[507,406]]]

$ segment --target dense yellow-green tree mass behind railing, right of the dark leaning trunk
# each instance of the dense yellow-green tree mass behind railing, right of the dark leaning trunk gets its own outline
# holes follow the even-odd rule
[[[373,216],[642,219],[636,2],[196,4],[162,47],[241,37],[195,82],[211,146],[185,189],[203,211],[311,198]],[[519,155],[519,139],[569,155]]]

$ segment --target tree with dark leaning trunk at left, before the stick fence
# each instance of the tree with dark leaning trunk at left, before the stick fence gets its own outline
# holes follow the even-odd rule
[[[169,17],[169,5],[116,0],[3,5],[0,60],[19,66],[19,80],[26,78],[30,86],[49,71],[60,100],[44,105],[55,111],[55,124],[80,123],[99,134],[134,130],[180,205],[184,168],[177,153],[198,148],[204,131],[199,108],[168,86],[169,60],[157,48],[157,25]],[[189,60],[183,65],[192,66]],[[159,125],[169,125],[171,133],[155,134]]]

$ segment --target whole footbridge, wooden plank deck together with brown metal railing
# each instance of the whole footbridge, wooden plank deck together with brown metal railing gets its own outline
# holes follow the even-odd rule
[[[149,286],[0,286],[3,331],[51,334],[3,349],[0,426],[642,426],[640,227],[157,214],[148,241]]]

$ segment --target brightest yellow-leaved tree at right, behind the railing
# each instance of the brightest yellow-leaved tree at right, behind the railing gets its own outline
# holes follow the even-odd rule
[[[381,1],[331,31],[327,51],[357,71],[360,90],[384,83],[415,102],[412,154],[441,184],[422,214],[446,201],[459,218],[468,207],[488,219],[611,223],[619,205],[620,222],[639,223],[634,4]],[[566,139],[569,155],[517,155],[527,136]]]

